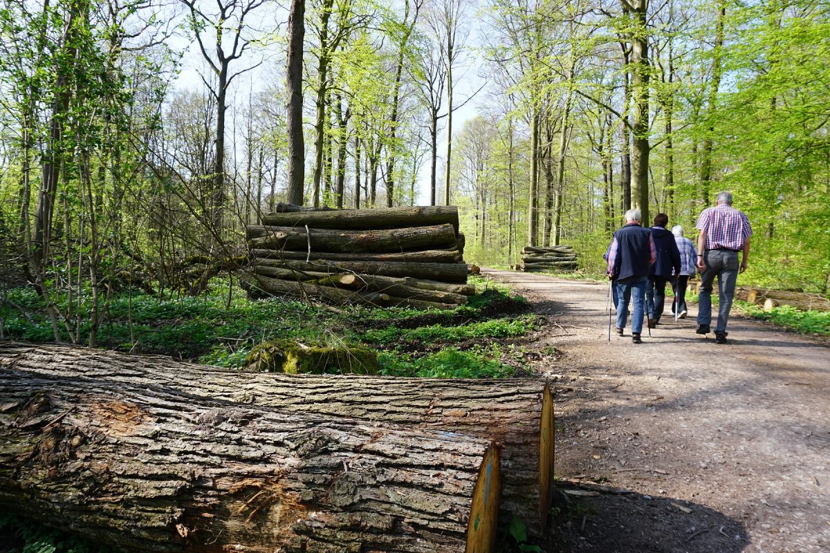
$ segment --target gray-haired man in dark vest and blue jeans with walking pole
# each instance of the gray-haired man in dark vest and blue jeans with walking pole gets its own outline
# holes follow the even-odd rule
[[[622,336],[628,318],[628,303],[633,303],[631,339],[642,343],[642,318],[645,314],[646,283],[656,252],[652,233],[640,226],[638,209],[626,211],[626,226],[614,233],[608,250],[608,278],[617,280],[617,333]]]

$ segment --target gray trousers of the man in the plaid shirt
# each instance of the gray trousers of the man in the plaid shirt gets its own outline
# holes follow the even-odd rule
[[[732,300],[735,298],[735,283],[738,281],[738,252],[730,250],[706,250],[703,252],[706,270],[701,274],[701,294],[698,298],[697,323],[709,324],[712,320],[712,284],[718,278],[718,324],[716,334],[726,334],[726,323]]]

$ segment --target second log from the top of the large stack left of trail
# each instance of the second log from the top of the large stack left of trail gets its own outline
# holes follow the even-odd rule
[[[456,243],[452,225],[412,226],[389,230],[330,230],[248,225],[251,248],[342,253],[385,253],[434,248]]]

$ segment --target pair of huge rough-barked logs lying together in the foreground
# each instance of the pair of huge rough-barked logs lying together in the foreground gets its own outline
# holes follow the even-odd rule
[[[544,531],[534,379],[282,375],[0,341],[0,505],[120,551],[491,553]]]

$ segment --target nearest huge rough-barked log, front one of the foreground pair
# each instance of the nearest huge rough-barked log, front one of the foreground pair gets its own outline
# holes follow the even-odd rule
[[[493,551],[490,440],[12,369],[0,405],[3,504],[118,550]]]

